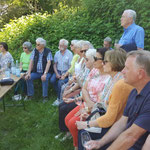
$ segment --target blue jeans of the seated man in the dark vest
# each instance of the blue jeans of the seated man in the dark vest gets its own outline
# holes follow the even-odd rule
[[[27,82],[27,94],[28,96],[34,95],[34,85],[33,80],[41,79],[41,76],[43,73],[31,73],[30,79],[28,79]],[[50,73],[47,73],[46,80],[42,81],[42,90],[43,90],[43,97],[48,96],[48,80],[50,78]]]

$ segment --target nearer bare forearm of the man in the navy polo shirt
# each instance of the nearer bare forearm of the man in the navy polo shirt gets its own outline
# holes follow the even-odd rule
[[[107,150],[127,150],[146,132],[145,129],[133,124],[113,142]]]

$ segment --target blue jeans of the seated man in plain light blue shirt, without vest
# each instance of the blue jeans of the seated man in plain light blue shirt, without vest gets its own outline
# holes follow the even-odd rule
[[[58,71],[58,73],[61,75],[60,71]],[[65,78],[64,80],[59,80],[58,78],[56,78],[55,73],[53,73],[53,75],[51,76],[50,83],[53,85],[53,87],[57,93],[58,99],[60,99],[61,86],[67,82],[68,82],[68,77]]]

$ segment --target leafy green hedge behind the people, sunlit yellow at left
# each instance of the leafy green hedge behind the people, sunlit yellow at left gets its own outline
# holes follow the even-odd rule
[[[43,37],[47,47],[53,54],[58,49],[61,38],[85,39],[97,47],[101,47],[103,39],[110,36],[113,40],[120,38],[123,32],[120,17],[124,9],[134,9],[137,12],[137,24],[145,29],[145,48],[150,49],[150,14],[148,0],[83,0],[80,8],[64,6],[53,15],[33,14],[23,16],[5,25],[0,32],[0,41],[6,41],[15,59],[19,59],[22,43]]]

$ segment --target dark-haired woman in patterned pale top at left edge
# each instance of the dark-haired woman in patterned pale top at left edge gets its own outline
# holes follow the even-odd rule
[[[13,61],[12,55],[8,52],[7,43],[0,42],[0,70],[7,67],[8,63],[11,64]]]

